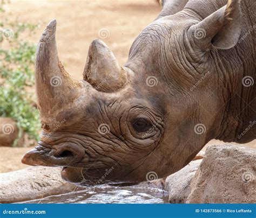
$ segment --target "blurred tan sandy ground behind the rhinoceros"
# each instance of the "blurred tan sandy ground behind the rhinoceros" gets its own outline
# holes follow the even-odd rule
[[[35,35],[27,37],[34,43],[38,42],[50,20],[56,18],[59,58],[72,76],[82,79],[87,51],[93,39],[104,40],[123,65],[134,38],[157,17],[161,8],[155,0],[30,0],[11,1],[6,10],[10,13],[9,19],[41,24]],[[221,143],[212,140],[206,146]],[[245,146],[256,149],[256,140]],[[21,159],[30,149],[31,147],[0,147],[0,172],[27,167],[21,163]]]

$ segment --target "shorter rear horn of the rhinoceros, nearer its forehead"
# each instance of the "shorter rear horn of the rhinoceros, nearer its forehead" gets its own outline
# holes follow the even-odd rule
[[[89,47],[83,78],[100,92],[116,92],[125,85],[127,75],[109,47],[95,39]]]

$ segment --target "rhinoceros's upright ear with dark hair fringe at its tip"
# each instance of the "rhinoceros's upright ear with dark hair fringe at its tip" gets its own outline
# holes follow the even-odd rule
[[[229,49],[238,42],[241,33],[240,0],[228,0],[226,6],[212,13],[188,30],[194,46],[202,50]]]

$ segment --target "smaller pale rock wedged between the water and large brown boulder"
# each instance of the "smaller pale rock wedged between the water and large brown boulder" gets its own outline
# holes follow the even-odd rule
[[[190,194],[190,182],[202,159],[191,161],[176,173],[169,175],[165,180],[165,189],[169,193],[169,203],[185,203]]]

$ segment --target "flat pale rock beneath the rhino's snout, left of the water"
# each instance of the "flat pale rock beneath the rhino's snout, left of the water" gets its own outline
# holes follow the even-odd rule
[[[33,166],[0,174],[0,203],[41,199],[79,190],[60,177],[60,167]]]

